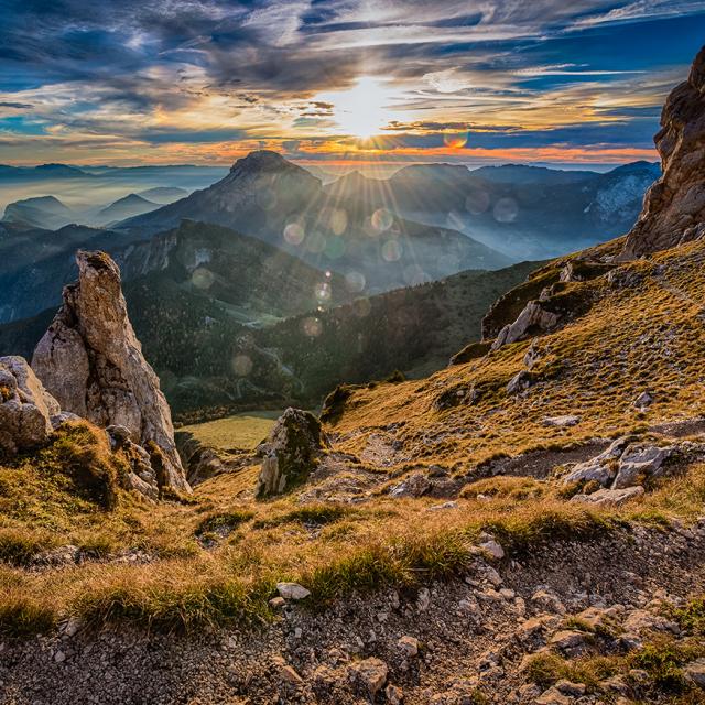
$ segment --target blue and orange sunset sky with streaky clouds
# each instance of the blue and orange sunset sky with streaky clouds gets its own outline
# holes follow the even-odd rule
[[[0,0],[0,163],[654,161],[705,0]]]

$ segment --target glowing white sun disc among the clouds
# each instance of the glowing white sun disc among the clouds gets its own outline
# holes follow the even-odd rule
[[[333,118],[347,134],[368,139],[391,119],[391,95],[377,78],[365,76],[349,90],[322,95],[333,106]]]

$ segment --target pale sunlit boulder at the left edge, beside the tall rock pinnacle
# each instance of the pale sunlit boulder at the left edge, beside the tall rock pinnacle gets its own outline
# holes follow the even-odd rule
[[[15,455],[48,442],[58,402],[44,389],[26,360],[0,357],[0,454]]]

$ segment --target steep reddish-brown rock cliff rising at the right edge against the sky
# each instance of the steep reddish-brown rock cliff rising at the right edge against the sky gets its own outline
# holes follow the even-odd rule
[[[622,259],[650,254],[705,234],[705,47],[687,80],[663,107],[654,142],[663,175],[644,197]]]

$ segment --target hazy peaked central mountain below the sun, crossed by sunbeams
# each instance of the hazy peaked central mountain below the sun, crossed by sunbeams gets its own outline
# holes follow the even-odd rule
[[[433,281],[511,259],[451,228],[388,208],[334,202],[321,181],[275,152],[252,152],[209,188],[116,226],[142,236],[188,218],[257,237],[319,268],[358,278],[368,292]]]

